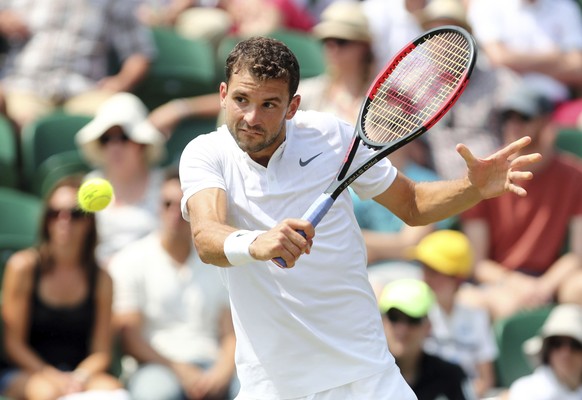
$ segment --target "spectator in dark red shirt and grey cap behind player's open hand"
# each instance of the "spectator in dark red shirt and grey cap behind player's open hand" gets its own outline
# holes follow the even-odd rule
[[[556,152],[553,105],[543,95],[520,86],[501,110],[505,142],[529,135],[543,160],[524,185],[527,199],[504,195],[462,214],[479,284],[463,298],[494,318],[555,300],[582,304],[582,162]]]

